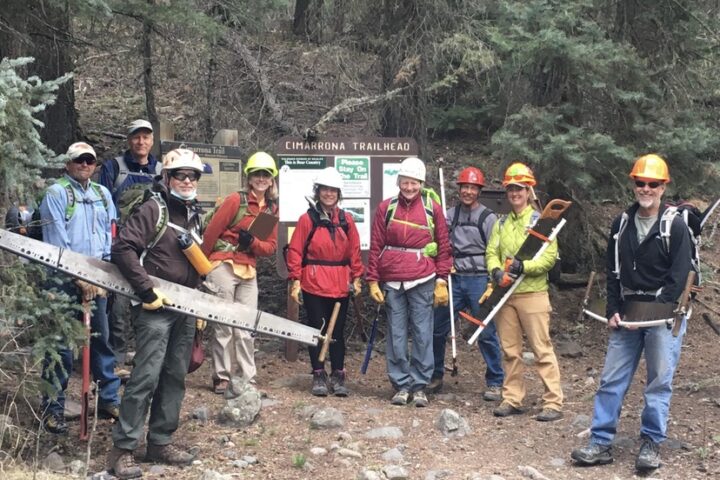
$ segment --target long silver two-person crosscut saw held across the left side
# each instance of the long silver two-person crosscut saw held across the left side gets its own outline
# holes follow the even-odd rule
[[[4,229],[0,229],[0,249],[140,302],[128,281],[112,263]],[[167,310],[306,345],[317,346],[325,341],[325,336],[316,328],[161,278],[150,276],[150,279],[171,300],[172,303],[164,307]]]

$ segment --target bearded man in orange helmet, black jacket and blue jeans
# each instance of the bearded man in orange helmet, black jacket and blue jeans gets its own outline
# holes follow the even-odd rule
[[[672,380],[687,320],[681,320],[677,336],[665,325],[620,328],[618,322],[632,302],[678,302],[691,269],[691,239],[679,215],[663,220],[667,207],[661,200],[670,181],[665,160],[655,154],[638,158],[630,178],[636,202],[615,219],[608,241],[606,317],[610,338],[595,395],[590,443],[573,450],[571,456],[584,466],[613,461],[611,445],[623,400],[644,351],[647,381],[642,444],[635,468],[647,471],[660,466],[659,445],[667,438]],[[661,227],[665,225],[670,227],[672,241],[663,238],[667,232]]]

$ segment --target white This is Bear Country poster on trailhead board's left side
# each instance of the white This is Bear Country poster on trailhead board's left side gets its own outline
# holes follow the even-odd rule
[[[280,159],[280,221],[297,222],[308,209],[306,197],[313,195],[313,183],[325,168],[325,157],[285,157]]]

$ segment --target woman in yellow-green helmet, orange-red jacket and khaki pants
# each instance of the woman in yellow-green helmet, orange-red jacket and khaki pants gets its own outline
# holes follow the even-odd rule
[[[244,169],[247,190],[228,195],[213,214],[203,236],[203,252],[215,267],[207,277],[210,288],[222,298],[257,308],[256,257],[269,257],[277,247],[277,225],[264,240],[248,229],[260,212],[277,215],[277,168],[265,152],[253,154]],[[213,325],[210,339],[213,360],[213,390],[225,393],[235,365],[251,382],[255,368],[255,342],[249,332]]]

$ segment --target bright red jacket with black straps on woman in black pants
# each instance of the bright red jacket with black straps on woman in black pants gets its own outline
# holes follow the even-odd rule
[[[287,251],[288,278],[299,279],[304,291],[321,297],[347,297],[350,282],[354,278],[361,277],[364,270],[360,257],[360,235],[352,215],[345,214],[348,224],[346,235],[340,227],[338,211],[339,209],[335,207],[331,214],[335,239],[332,239],[330,229],[318,226],[308,245],[307,258],[330,262],[349,260],[349,265],[302,266],[303,248],[313,226],[312,219],[307,213],[298,220]]]

